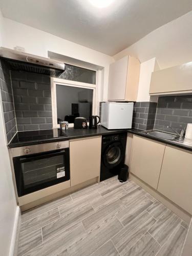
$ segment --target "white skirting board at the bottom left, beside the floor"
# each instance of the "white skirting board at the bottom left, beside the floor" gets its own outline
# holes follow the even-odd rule
[[[20,207],[17,205],[16,212],[15,212],[15,220],[13,225],[13,232],[11,238],[11,245],[9,249],[9,256],[16,256],[17,254],[17,243],[18,243],[18,234],[20,228]]]

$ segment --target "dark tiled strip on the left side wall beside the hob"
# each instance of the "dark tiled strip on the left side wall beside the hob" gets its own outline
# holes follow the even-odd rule
[[[14,136],[16,129],[16,118],[13,105],[13,94],[11,87],[10,71],[4,60],[0,60],[0,86],[3,104],[7,142]]]

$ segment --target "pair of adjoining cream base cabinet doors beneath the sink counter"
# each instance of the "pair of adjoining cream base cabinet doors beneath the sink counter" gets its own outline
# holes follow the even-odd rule
[[[192,152],[134,135],[130,172],[192,215]]]

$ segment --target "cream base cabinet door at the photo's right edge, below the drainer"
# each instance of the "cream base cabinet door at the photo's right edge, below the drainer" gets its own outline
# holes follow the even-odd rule
[[[157,190],[192,214],[192,152],[166,146]]]

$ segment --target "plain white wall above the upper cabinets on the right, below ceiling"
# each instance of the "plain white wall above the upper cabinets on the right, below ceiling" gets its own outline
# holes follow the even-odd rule
[[[191,61],[192,11],[154,30],[132,46],[114,55],[137,57],[140,62],[156,57],[161,69]]]

